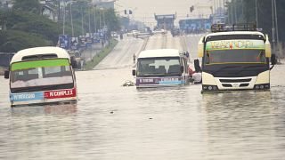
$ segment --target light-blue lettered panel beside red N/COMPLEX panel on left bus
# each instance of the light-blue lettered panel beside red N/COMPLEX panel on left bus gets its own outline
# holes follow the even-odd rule
[[[10,94],[11,101],[44,100],[44,92],[25,92]]]

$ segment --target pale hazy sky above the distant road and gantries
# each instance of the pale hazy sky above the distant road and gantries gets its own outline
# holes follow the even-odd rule
[[[125,9],[131,9],[134,15],[130,16],[135,20],[145,22],[154,22],[154,13],[156,14],[175,14],[177,19],[185,19],[187,14],[190,17],[199,17],[199,15],[209,14],[209,6],[213,4],[213,0],[118,0],[115,4],[116,9],[121,12]],[[194,12],[190,13],[190,6],[199,7]],[[207,7],[208,6],[208,7]],[[178,21],[176,20],[176,22]]]

